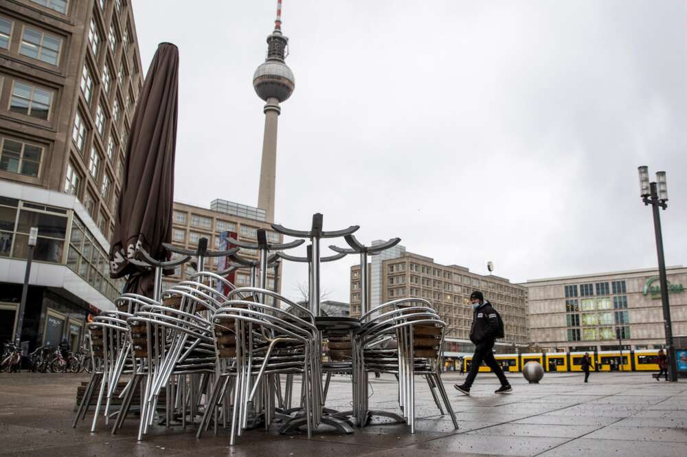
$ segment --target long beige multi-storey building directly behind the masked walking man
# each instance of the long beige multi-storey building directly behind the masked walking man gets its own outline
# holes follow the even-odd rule
[[[434,304],[448,324],[447,352],[458,353],[462,352],[458,349],[460,344],[470,343],[473,315],[470,294],[480,290],[504,320],[506,338],[499,342],[506,343],[511,348],[513,343],[523,346],[528,342],[524,287],[499,276],[475,274],[458,265],[440,265],[432,258],[405,252],[405,248],[399,245],[396,248],[398,251],[395,255],[392,254],[392,258],[372,257],[372,264],[368,267],[370,309],[398,298],[425,298]],[[385,253],[381,256],[383,254]],[[361,304],[359,265],[351,267],[350,271],[351,315],[358,316]]]

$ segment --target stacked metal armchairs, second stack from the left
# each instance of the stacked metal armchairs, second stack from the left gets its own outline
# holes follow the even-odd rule
[[[184,427],[186,417],[190,415],[193,418],[199,412],[199,404],[203,394],[208,393],[207,386],[215,370],[208,316],[225,299],[216,288],[218,282],[231,285],[217,274],[202,271],[166,291],[162,304],[146,304],[128,317],[126,323],[131,335],[135,370],[113,433],[122,426],[131,407],[134,390],[144,380],[139,440],[155,419],[163,388],[167,388],[168,425],[177,412],[181,414]]]

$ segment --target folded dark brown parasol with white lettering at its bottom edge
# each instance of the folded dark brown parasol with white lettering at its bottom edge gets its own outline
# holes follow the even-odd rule
[[[179,49],[160,43],[137,100],[126,144],[122,196],[110,248],[110,276],[129,275],[127,292],[153,295],[154,275],[128,259],[137,249],[164,260],[172,241]]]

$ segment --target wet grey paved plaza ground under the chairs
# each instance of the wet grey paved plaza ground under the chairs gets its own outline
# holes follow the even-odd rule
[[[0,375],[0,455],[5,456],[687,456],[687,381],[657,382],[649,373],[593,373],[590,382],[574,373],[547,374],[528,384],[510,380],[514,392],[495,395],[491,374],[477,377],[470,397],[452,387],[464,377],[444,375],[460,430],[440,416],[418,377],[417,432],[405,425],[370,425],[341,435],[326,426],[313,438],[251,430],[229,447],[227,430],[196,440],[195,427],[156,426],[144,441],[137,420],[127,419],[113,436],[101,421],[71,428],[76,388],[87,375],[21,373]],[[392,377],[373,379],[370,405],[398,412]],[[350,408],[350,382],[339,378],[328,406]],[[91,414],[89,414],[91,417]],[[381,421],[381,420],[380,420]]]

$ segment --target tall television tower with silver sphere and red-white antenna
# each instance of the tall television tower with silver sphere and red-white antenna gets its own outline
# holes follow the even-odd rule
[[[274,222],[274,181],[277,162],[277,119],[280,102],[288,99],[295,88],[291,69],[284,63],[289,38],[282,35],[282,0],[277,0],[277,19],[267,37],[267,58],[253,75],[253,87],[264,104],[264,136],[260,163],[258,208],[267,212],[267,221]]]

